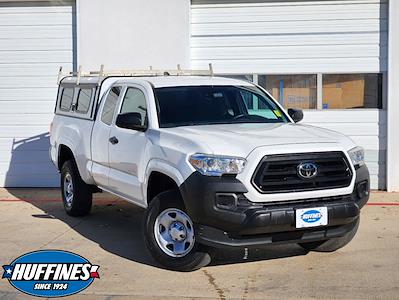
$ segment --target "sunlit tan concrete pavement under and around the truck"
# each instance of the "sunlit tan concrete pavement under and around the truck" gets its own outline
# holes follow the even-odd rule
[[[91,215],[67,216],[57,189],[0,189],[0,263],[39,249],[100,265],[84,299],[399,299],[399,194],[372,193],[357,236],[334,253],[297,245],[218,251],[195,272],[164,270],[147,252],[143,210],[103,193]],[[1,299],[29,298],[0,280]]]

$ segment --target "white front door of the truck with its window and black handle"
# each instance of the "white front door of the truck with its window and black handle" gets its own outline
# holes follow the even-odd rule
[[[123,96],[118,114],[139,113],[146,127],[146,97],[139,87],[129,86]],[[141,190],[144,166],[142,156],[146,147],[144,130],[118,127],[115,122],[109,135],[109,187],[110,190],[139,205],[145,205]]]

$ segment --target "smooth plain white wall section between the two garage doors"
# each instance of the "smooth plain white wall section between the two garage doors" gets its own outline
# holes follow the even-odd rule
[[[189,65],[189,0],[78,0],[83,69]]]

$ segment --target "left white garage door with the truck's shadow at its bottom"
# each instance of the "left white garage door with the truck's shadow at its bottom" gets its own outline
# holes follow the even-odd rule
[[[48,131],[58,67],[73,68],[74,5],[0,2],[0,186],[57,186]]]

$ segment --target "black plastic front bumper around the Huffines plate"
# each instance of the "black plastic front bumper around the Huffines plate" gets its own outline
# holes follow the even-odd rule
[[[251,202],[245,186],[234,177],[209,177],[193,173],[181,186],[188,214],[196,224],[197,240],[215,247],[250,247],[272,243],[296,243],[339,237],[356,223],[369,198],[366,166],[356,170],[352,194],[269,203]],[[217,204],[217,195],[235,194],[236,205]],[[295,228],[295,210],[327,207],[328,225]]]

